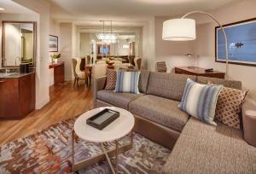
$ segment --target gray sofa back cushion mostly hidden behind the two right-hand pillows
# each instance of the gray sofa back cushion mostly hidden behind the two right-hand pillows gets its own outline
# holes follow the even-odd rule
[[[208,82],[212,82],[213,84],[223,84],[225,87],[241,90],[241,81],[236,80],[227,80],[222,78],[207,78],[198,76],[197,82],[200,84],[208,84]]]

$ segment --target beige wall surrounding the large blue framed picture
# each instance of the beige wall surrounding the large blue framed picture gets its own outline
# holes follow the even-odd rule
[[[220,9],[211,11],[221,24],[247,20],[256,16],[256,1],[246,0],[230,3]],[[198,63],[200,67],[213,67],[225,72],[225,64],[215,62],[215,36],[214,28],[217,26],[212,20],[204,16],[195,16],[197,22],[197,39],[195,44],[195,54],[199,55]],[[201,24],[205,23],[207,24]],[[256,67],[232,65],[230,64],[230,78],[241,80],[243,89],[250,90],[249,97],[256,101]]]

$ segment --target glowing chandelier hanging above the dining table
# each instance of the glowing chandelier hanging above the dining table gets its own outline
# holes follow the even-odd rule
[[[112,43],[116,43],[117,39],[118,39],[118,35],[113,33],[113,29],[112,29],[112,20],[110,20],[110,31],[107,31],[105,29],[105,20],[102,21],[103,22],[103,29],[102,29],[102,33],[98,33],[96,34],[96,37],[102,41],[102,43],[104,44],[112,44]]]

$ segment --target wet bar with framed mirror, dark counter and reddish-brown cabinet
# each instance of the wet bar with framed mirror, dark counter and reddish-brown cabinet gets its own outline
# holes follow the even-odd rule
[[[36,22],[2,21],[0,119],[21,119],[35,109],[36,41]]]

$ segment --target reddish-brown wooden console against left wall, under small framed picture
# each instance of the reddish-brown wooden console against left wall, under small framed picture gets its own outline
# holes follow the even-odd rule
[[[65,82],[64,62],[60,61],[55,64],[49,64],[49,69],[51,69],[51,68],[54,68],[55,84],[63,84]]]

